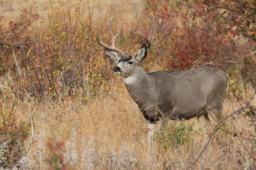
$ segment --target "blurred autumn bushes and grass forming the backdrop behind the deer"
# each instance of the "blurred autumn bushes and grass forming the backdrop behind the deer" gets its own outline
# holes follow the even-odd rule
[[[114,33],[124,21],[116,46],[133,53],[145,43],[135,31],[149,35],[150,13],[157,33],[142,64],[146,72],[216,67],[227,73],[232,95],[247,101],[246,87],[256,87],[256,1],[1,0],[0,142],[15,151],[1,152],[9,160],[2,166],[21,159],[20,144],[31,130],[30,121],[23,121],[27,109],[15,115],[16,106],[88,104],[124,90],[96,36],[101,31],[110,44],[109,19]]]

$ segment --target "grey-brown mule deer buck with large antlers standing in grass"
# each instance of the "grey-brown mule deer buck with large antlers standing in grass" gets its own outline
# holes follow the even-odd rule
[[[140,50],[132,55],[126,55],[123,50],[115,47],[115,40],[123,24],[114,36],[110,20],[108,30],[112,36],[111,46],[102,41],[100,32],[97,37],[99,45],[105,47],[108,59],[118,63],[113,69],[114,72],[124,77],[130,97],[138,104],[148,122],[148,142],[151,143],[156,122],[160,121],[160,129],[165,118],[189,120],[196,117],[202,126],[207,125],[209,129],[213,129],[208,115],[215,121],[218,121],[218,115],[221,115],[228,87],[226,73],[210,67],[198,67],[182,72],[144,72],[141,62],[148,54],[147,49],[152,46],[157,27],[155,18],[153,15],[152,17],[153,22],[149,20],[149,38],[137,32],[148,45],[143,44]]]

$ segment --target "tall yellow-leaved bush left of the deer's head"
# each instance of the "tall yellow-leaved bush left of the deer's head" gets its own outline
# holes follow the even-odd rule
[[[89,4],[87,10],[81,2],[59,1],[57,8],[49,5],[49,27],[35,29],[30,49],[21,53],[26,58],[21,90],[39,99],[48,95],[59,100],[76,96],[87,100],[98,94],[107,80],[96,42],[101,19],[98,25],[94,23]],[[82,11],[88,12],[87,19]]]

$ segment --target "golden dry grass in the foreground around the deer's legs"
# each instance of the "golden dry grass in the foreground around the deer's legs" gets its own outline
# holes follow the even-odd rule
[[[252,89],[245,91],[243,95],[249,100],[254,91]],[[255,106],[255,98],[252,104]],[[225,101],[224,114],[229,115],[240,107],[236,98],[229,95]],[[188,169],[191,168],[209,136],[206,131],[199,131],[200,125],[193,118],[185,121],[185,124],[195,121],[193,132],[188,136],[191,143],[178,144],[177,147],[167,149],[163,149],[155,143],[152,154],[148,155],[146,120],[126,90],[112,90],[107,94],[99,95],[88,104],[83,104],[82,100],[66,100],[64,103],[48,101],[44,104],[29,101],[16,106],[16,114],[20,114],[24,109],[27,109],[27,121],[29,121],[29,113],[34,113],[37,129],[29,157],[32,166],[38,165],[40,163],[37,156],[38,151],[41,152],[44,149],[41,159],[43,169],[51,164],[49,163],[51,157],[65,160],[68,149],[75,149],[76,152],[73,154],[70,152],[69,156],[77,157],[76,163],[72,164],[69,161],[68,167],[85,168],[85,165],[82,166],[82,155],[84,151],[87,151],[85,160],[88,161],[88,151],[92,147],[87,144],[90,137],[93,139],[95,150],[90,156],[93,161],[91,161],[89,169]],[[170,121],[169,123],[174,122]],[[251,166],[251,169],[254,169],[256,165],[250,153],[255,154],[255,138],[251,137],[254,141],[250,142],[227,133],[227,131],[238,132],[246,128],[246,131],[253,135],[255,129],[253,126],[249,126],[249,123],[251,122],[241,114],[229,118],[213,136],[194,168],[244,169]],[[176,124],[179,125],[179,122]],[[76,127],[75,131],[74,126]],[[85,143],[83,143],[82,137],[84,137]],[[248,134],[246,137],[250,138]],[[69,144],[70,146],[67,148],[65,146],[67,141],[74,142],[76,145]],[[40,144],[42,142],[44,144]],[[29,147],[29,141],[27,147]],[[117,154],[116,157],[119,157],[119,161],[116,163],[112,162],[113,151]],[[129,153],[124,156],[124,151]],[[74,155],[74,153],[76,154]],[[102,156],[102,153],[105,156]],[[121,156],[134,161],[127,161],[128,163],[125,165],[120,164]],[[110,166],[111,163],[113,166]]]

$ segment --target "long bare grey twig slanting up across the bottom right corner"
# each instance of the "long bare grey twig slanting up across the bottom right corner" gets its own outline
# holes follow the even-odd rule
[[[254,95],[252,96],[251,100],[248,101],[248,103],[246,104],[246,106],[241,107],[240,109],[236,110],[235,112],[233,112],[232,114],[228,115],[227,117],[225,117],[224,119],[222,119],[221,121],[219,121],[218,124],[216,124],[216,126],[214,127],[212,133],[210,134],[210,137],[208,138],[207,142],[204,145],[204,148],[202,149],[202,151],[199,153],[198,157],[196,158],[196,160],[194,160],[191,169],[194,168],[194,165],[196,165],[197,161],[199,161],[199,158],[201,157],[201,155],[204,153],[205,148],[208,146],[208,144],[210,143],[210,140],[213,137],[214,132],[216,131],[216,129],[218,129],[219,124],[221,124],[223,121],[227,120],[227,118],[232,117],[232,115],[235,115],[236,113],[240,112],[241,110],[246,109],[247,107],[250,107],[249,104],[251,103],[252,99],[255,97],[256,92],[254,93]]]

